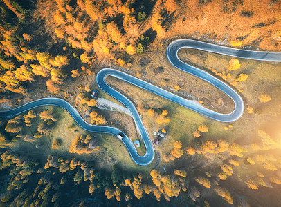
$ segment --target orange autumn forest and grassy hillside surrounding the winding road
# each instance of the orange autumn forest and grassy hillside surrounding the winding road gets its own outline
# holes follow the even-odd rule
[[[60,97],[89,124],[140,139],[141,155],[132,117],[99,100],[120,103],[100,90],[91,97],[100,69],[229,112],[229,97],[175,74],[167,45],[195,39],[281,51],[279,0],[3,0],[0,8],[0,110]],[[280,63],[189,49],[179,57],[235,88],[246,103],[242,119],[218,123],[109,77],[149,135],[166,135],[154,162],[137,166],[115,137],[82,130],[61,108],[34,108],[0,119],[0,205],[280,206]]]

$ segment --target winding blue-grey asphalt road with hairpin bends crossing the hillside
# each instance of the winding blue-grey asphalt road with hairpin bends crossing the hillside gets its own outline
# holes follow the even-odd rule
[[[123,103],[123,105],[126,106],[132,113],[132,117],[136,123],[136,127],[138,128],[138,132],[140,132],[145,147],[147,149],[145,155],[143,156],[138,155],[138,152],[136,151],[134,144],[129,139],[129,137],[127,137],[127,135],[125,135],[123,132],[121,132],[117,128],[110,127],[110,126],[95,126],[95,125],[88,124],[86,121],[84,121],[80,113],[64,99],[55,98],[55,97],[38,99],[36,101],[26,103],[23,106],[19,106],[18,108],[14,108],[12,110],[0,111],[0,117],[10,119],[15,115],[19,115],[22,112],[25,112],[27,110],[39,106],[46,106],[46,105],[59,106],[61,108],[64,108],[64,110],[66,110],[67,112],[69,112],[69,114],[73,117],[73,119],[84,130],[87,130],[89,132],[96,132],[96,133],[107,133],[115,136],[117,136],[119,133],[122,133],[124,135],[122,139],[123,144],[125,144],[129,152],[129,155],[132,157],[133,161],[138,165],[146,166],[152,163],[155,156],[154,148],[152,146],[152,142],[149,139],[149,135],[147,134],[145,127],[143,126],[141,117],[140,115],[138,115],[136,107],[124,95],[120,94],[120,92],[114,90],[113,88],[107,85],[105,81],[105,78],[107,76],[113,76],[123,81],[127,81],[128,83],[132,83],[135,86],[148,90],[149,92],[153,92],[155,95],[159,95],[165,99],[173,101],[174,103],[178,103],[181,106],[189,108],[190,110],[194,110],[195,112],[198,112],[201,115],[209,117],[210,119],[215,119],[217,121],[232,122],[239,119],[239,117],[241,117],[244,112],[243,99],[242,97],[240,97],[240,95],[237,92],[235,92],[235,90],[230,88],[230,86],[228,86],[223,81],[220,81],[216,77],[213,77],[208,72],[205,72],[203,70],[190,66],[186,63],[183,63],[183,61],[179,59],[178,51],[181,48],[193,48],[197,50],[215,52],[221,55],[229,55],[229,56],[245,58],[245,59],[281,62],[281,52],[260,52],[260,51],[250,51],[250,50],[238,50],[235,48],[227,48],[224,46],[217,46],[211,43],[204,43],[201,41],[194,41],[190,39],[178,39],[170,43],[170,45],[167,47],[167,58],[169,59],[169,61],[172,63],[174,67],[179,68],[179,70],[183,70],[184,72],[188,72],[191,75],[199,77],[204,81],[208,81],[213,86],[219,88],[219,90],[225,92],[226,95],[228,95],[231,99],[233,99],[235,103],[235,109],[233,110],[233,112],[230,112],[229,114],[221,114],[209,110],[208,108],[205,108],[199,104],[194,103],[193,101],[183,99],[182,97],[179,97],[177,95],[172,94],[171,92],[163,90],[162,88],[154,86],[151,83],[147,83],[145,81],[142,81],[141,79],[128,75],[125,72],[120,72],[119,70],[114,70],[111,68],[104,68],[100,70],[100,72],[98,72],[96,76],[96,82],[98,83],[100,89],[107,92],[107,94],[111,95],[111,97],[114,97],[115,99]]]

